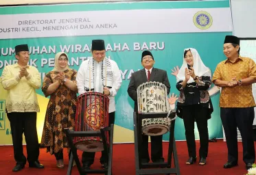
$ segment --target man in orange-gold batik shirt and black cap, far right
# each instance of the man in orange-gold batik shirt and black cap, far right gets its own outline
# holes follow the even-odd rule
[[[252,83],[256,82],[256,64],[253,59],[241,57],[240,40],[226,36],[223,51],[227,59],[220,62],[213,74],[213,83],[222,87],[220,94],[220,117],[226,135],[228,161],[224,168],[237,165],[237,127],[243,144],[243,160],[246,168],[255,162],[253,120],[255,100]]]

